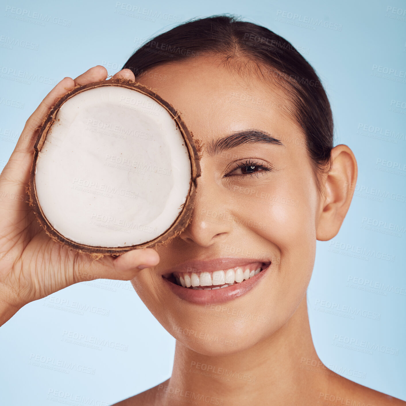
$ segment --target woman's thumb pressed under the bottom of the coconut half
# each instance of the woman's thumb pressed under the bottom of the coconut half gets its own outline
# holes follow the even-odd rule
[[[106,256],[102,259],[89,259],[87,266],[74,269],[78,282],[94,279],[120,279],[129,281],[140,270],[158,265],[158,253],[152,248],[141,248],[128,251],[119,257]]]

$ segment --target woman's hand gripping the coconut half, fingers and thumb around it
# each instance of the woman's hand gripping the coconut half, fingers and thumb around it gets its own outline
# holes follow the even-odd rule
[[[0,325],[21,307],[64,287],[98,278],[130,280],[142,268],[159,262],[151,248],[119,257],[94,260],[52,240],[28,205],[26,187],[39,127],[56,99],[78,84],[107,78],[107,70],[95,66],[75,80],[64,78],[48,93],[27,120],[9,162],[0,174]],[[135,80],[130,69],[113,78]]]

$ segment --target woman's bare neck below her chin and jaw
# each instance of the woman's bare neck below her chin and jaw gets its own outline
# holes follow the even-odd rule
[[[202,355],[177,341],[172,376],[160,390],[167,405],[317,404],[332,375],[313,346],[305,295],[284,326],[238,354]]]

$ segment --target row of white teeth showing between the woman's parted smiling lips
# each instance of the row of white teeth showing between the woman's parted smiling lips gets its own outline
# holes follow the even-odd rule
[[[186,289],[215,290],[244,283],[268,265],[264,262],[253,262],[212,272],[173,272],[164,278]]]

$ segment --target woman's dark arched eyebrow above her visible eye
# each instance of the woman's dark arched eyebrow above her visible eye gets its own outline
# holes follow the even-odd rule
[[[272,137],[272,135],[266,131],[244,130],[233,132],[232,134],[229,134],[223,138],[212,141],[209,145],[207,145],[207,152],[209,153],[209,155],[215,155],[222,151],[227,151],[227,149],[253,143],[283,145],[281,140]]]

